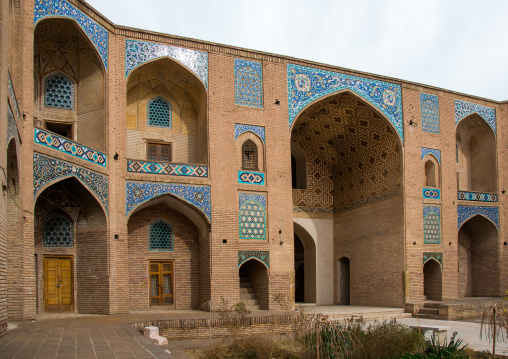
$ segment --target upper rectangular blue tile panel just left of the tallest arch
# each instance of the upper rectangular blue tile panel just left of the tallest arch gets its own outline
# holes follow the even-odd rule
[[[263,107],[261,63],[235,59],[235,104]]]

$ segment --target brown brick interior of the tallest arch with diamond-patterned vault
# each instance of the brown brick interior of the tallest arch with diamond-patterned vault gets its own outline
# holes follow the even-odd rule
[[[401,306],[402,145],[392,124],[346,91],[305,109],[293,125],[291,140],[302,149],[307,164],[307,186],[293,189],[293,206],[312,213],[314,228],[322,227],[317,221],[333,222],[332,232],[316,238],[317,257],[327,258],[318,264],[318,287],[331,275],[324,287],[335,288],[328,304],[339,302],[333,298],[339,282],[335,268],[347,257],[366,263],[350,273],[351,304]],[[331,251],[333,257],[328,258]],[[373,291],[375,298],[369,294]],[[318,288],[317,293],[324,291]]]

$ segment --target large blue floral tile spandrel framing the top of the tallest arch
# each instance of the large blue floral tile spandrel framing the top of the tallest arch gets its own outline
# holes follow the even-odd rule
[[[310,67],[287,65],[289,128],[307,105],[328,94],[351,90],[381,111],[395,127],[402,143],[402,96],[399,85]]]

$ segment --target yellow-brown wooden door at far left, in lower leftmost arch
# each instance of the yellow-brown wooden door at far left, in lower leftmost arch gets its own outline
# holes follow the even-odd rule
[[[72,257],[44,258],[44,309],[73,310]]]

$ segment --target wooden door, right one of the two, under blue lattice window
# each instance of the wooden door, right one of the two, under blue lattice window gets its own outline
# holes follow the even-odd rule
[[[173,262],[150,262],[150,305],[173,304]]]

